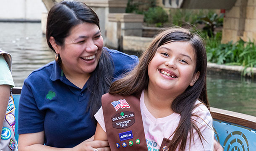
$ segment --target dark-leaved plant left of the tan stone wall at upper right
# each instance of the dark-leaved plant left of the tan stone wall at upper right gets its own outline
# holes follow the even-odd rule
[[[207,32],[209,37],[214,36],[214,31],[217,27],[223,26],[224,14],[218,16],[217,13],[209,13],[199,17],[197,23],[204,24],[203,31]]]

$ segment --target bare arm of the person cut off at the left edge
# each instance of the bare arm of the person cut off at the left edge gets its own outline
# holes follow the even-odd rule
[[[10,85],[0,85],[0,130],[3,128],[6,108],[10,97]]]

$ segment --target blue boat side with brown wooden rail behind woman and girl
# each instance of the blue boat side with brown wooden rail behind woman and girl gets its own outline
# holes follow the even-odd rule
[[[21,88],[13,89],[16,107],[15,138],[18,141],[18,101]],[[256,117],[211,107],[215,138],[224,151],[256,151]]]

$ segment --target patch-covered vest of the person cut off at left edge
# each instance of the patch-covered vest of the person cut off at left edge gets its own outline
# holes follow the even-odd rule
[[[11,71],[11,55],[1,49],[0,55],[3,55]],[[12,93],[10,92],[3,128],[1,130],[0,151],[18,151],[18,143],[14,137],[15,122],[15,106]]]

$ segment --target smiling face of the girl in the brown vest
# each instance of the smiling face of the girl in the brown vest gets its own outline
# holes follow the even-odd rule
[[[199,78],[200,72],[195,73],[195,68],[195,52],[190,43],[164,44],[149,62],[149,87],[178,96]]]

